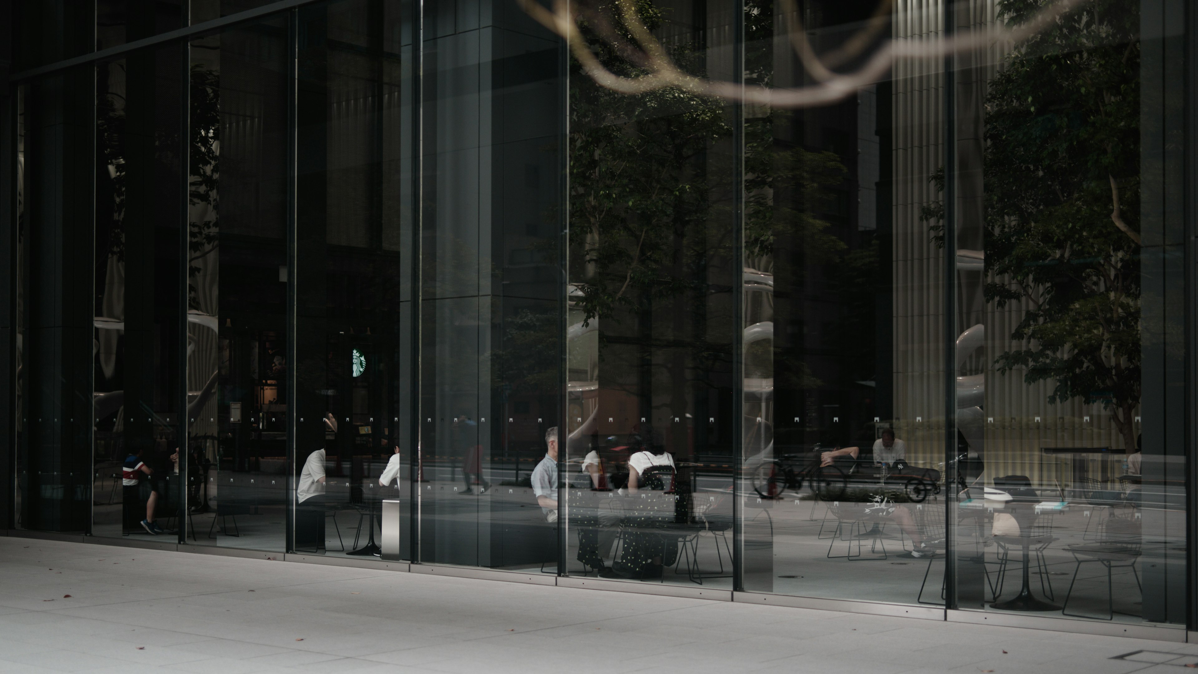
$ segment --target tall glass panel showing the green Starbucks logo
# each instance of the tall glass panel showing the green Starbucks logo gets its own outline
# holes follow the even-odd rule
[[[347,0],[298,16],[297,552],[371,558],[380,500],[410,498],[399,8]]]

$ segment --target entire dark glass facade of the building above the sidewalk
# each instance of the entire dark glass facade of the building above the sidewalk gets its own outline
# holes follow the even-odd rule
[[[16,2],[6,528],[1198,628],[1192,7],[546,7]]]

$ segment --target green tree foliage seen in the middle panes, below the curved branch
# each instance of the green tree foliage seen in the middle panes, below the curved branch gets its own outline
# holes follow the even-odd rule
[[[651,0],[636,7],[649,30],[662,26],[664,11]],[[629,41],[613,6],[598,6],[595,16],[606,17]],[[768,2],[746,7],[751,44],[769,43],[757,37],[772,30],[772,22]],[[600,40],[587,24],[583,29],[592,50],[613,73],[645,74],[618,43]],[[704,76],[702,47],[673,43],[671,56],[688,72]],[[767,80],[769,59],[756,61],[749,77]],[[822,251],[840,251],[843,243],[823,231],[828,223],[811,215],[813,209],[797,209],[778,194],[781,188],[798,189],[805,204],[821,203],[825,188],[843,180],[845,167],[835,154],[778,144],[778,114],[766,112],[745,124],[745,257],[752,261],[770,255],[783,229],[804,233]],[[574,282],[586,319],[615,319],[619,311],[637,311],[654,297],[695,290],[691,279],[704,277],[702,265],[714,255],[732,255],[737,185],[731,139],[728,109],[715,98],[677,89],[639,95],[598,85],[571,89],[571,266],[582,270]]]

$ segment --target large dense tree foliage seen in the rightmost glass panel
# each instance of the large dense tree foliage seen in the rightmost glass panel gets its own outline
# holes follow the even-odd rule
[[[1003,0],[1018,24],[1047,0]],[[1139,7],[1089,0],[1018,46],[986,97],[986,300],[1025,308],[1000,371],[1048,402],[1112,411],[1127,452],[1140,398]],[[943,171],[933,180],[943,188]],[[939,205],[925,209],[939,218]],[[938,233],[937,233],[938,234]]]

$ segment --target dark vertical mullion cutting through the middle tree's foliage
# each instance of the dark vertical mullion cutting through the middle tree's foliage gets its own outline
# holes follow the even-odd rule
[[[736,0],[732,7],[732,79],[744,92],[745,47],[744,0]],[[745,120],[744,102],[736,100],[732,110],[732,589],[744,591],[744,499],[749,498],[744,481],[744,168],[745,168]]]

